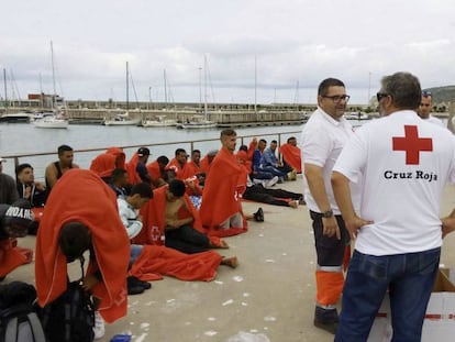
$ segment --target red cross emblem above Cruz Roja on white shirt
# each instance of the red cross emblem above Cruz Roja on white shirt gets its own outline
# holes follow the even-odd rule
[[[392,137],[393,151],[406,151],[406,164],[419,165],[421,151],[433,151],[431,137],[419,137],[417,125],[404,125],[404,136]]]

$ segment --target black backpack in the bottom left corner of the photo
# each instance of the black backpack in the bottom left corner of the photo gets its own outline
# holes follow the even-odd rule
[[[33,285],[12,282],[0,286],[0,342],[46,342],[35,300]]]

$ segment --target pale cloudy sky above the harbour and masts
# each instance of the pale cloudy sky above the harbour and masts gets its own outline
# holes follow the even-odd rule
[[[126,63],[130,101],[315,103],[336,77],[364,104],[396,71],[455,85],[453,0],[9,0],[1,12],[9,99],[55,80],[68,100],[124,101]]]

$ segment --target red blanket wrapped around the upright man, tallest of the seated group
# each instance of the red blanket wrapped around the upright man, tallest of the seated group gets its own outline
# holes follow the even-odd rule
[[[214,157],[203,188],[200,217],[209,235],[231,236],[244,233],[243,227],[220,229],[220,225],[236,212],[242,212],[241,195],[246,187],[246,168],[238,164],[234,154],[221,148]]]

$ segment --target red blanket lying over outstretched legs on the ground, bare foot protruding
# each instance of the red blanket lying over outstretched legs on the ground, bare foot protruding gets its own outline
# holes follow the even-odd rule
[[[210,282],[217,276],[220,263],[220,254],[213,251],[185,254],[166,246],[145,245],[131,267],[131,275],[145,282],[158,280],[163,276]]]

